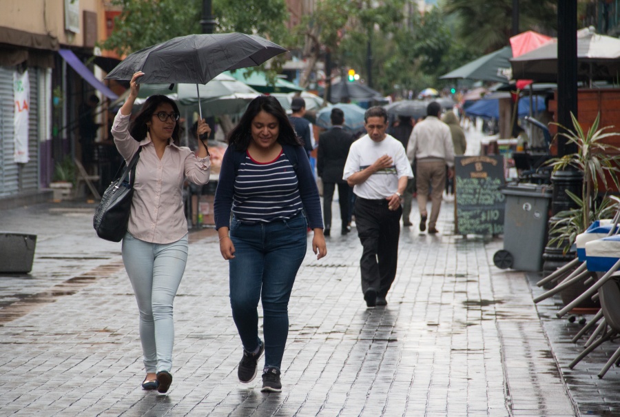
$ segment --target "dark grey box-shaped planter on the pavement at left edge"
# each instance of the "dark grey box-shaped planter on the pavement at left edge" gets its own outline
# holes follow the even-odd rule
[[[28,274],[36,245],[36,234],[0,232],[0,273]]]

